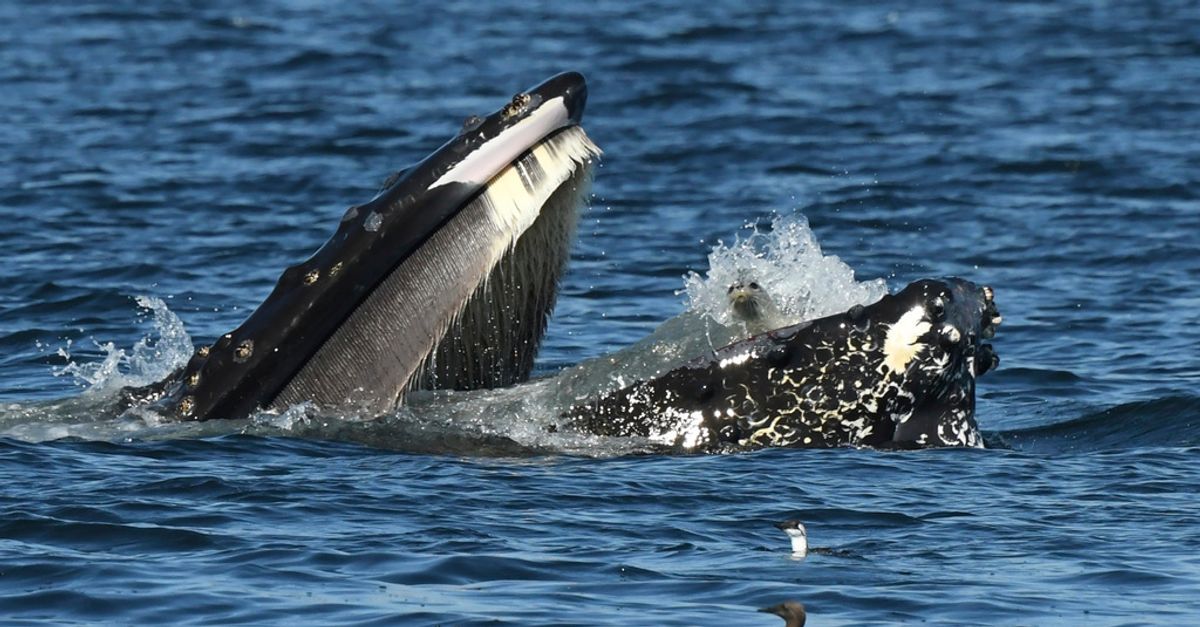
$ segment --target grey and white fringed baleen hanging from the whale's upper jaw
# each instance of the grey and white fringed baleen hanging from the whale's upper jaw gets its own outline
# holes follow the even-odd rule
[[[598,155],[571,126],[500,172],[362,300],[269,407],[378,414],[413,387],[527,380]]]

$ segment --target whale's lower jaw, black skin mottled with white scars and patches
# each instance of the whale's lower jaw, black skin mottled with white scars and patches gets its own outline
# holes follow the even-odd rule
[[[869,306],[732,344],[564,414],[672,449],[980,447],[976,377],[998,365],[992,291],[922,280]]]

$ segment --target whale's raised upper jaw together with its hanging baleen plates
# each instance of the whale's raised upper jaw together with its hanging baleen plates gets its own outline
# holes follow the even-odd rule
[[[600,150],[583,77],[521,94],[352,207],[263,304],[197,351],[167,394],[180,418],[312,401],[385,412],[413,387],[529,376]]]

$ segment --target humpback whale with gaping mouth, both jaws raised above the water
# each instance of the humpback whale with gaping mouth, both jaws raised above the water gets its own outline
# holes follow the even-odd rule
[[[301,402],[379,416],[415,389],[528,380],[601,154],[580,127],[586,101],[583,77],[568,72],[468,118],[350,207],[241,326],[166,380],[127,389],[125,402],[186,420]],[[732,305],[766,299],[755,287],[732,286]],[[994,295],[929,279],[839,315],[755,329],[577,402],[547,429],[686,452],[979,447],[974,381],[998,364],[984,344],[1001,321]]]

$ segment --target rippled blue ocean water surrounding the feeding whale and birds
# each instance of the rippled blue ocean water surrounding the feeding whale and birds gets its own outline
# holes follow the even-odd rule
[[[784,599],[810,625],[1200,622],[1194,2],[16,1],[0,22],[0,622],[770,626],[755,610]],[[106,413],[389,172],[563,70],[606,156],[545,378],[373,423]],[[824,289],[816,309],[994,286],[989,448],[647,455],[524,428],[528,390],[746,259]],[[793,560],[787,518],[828,550]]]

